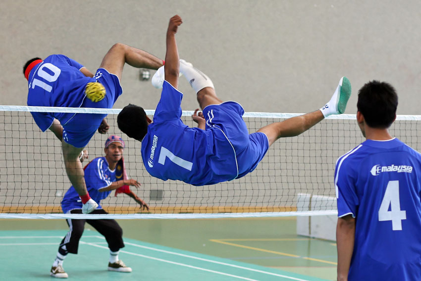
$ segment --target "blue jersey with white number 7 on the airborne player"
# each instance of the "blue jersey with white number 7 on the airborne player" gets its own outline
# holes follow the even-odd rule
[[[148,172],[162,180],[193,185],[232,180],[238,175],[235,152],[218,128],[190,128],[181,118],[183,94],[164,81],[154,122],[142,140]]]

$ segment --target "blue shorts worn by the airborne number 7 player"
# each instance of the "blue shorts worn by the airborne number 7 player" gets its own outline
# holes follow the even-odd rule
[[[249,134],[243,114],[243,107],[236,102],[209,105],[203,109],[206,128],[219,128],[235,151],[237,178],[256,169],[269,148],[269,141],[264,133]]]

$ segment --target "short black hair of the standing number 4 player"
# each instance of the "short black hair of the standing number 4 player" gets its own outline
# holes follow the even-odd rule
[[[372,128],[390,127],[395,120],[397,107],[398,95],[389,83],[373,80],[358,92],[357,109]]]

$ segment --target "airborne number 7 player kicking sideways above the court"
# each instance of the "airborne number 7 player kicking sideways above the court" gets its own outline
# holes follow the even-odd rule
[[[170,19],[165,67],[159,68],[152,79],[153,83],[155,80],[162,83],[165,78],[154,121],[134,105],[125,107],[117,117],[121,131],[142,142],[143,163],[151,175],[197,186],[240,178],[256,169],[268,147],[278,138],[299,135],[325,116],[345,111],[351,84],[343,77],[322,109],[269,124],[249,134],[241,105],[223,103],[216,97],[208,76],[179,60],[175,33],[181,23],[178,15]],[[180,119],[183,94],[177,90],[179,72],[196,91],[203,109],[204,117],[196,113],[193,116],[198,128],[190,128]]]

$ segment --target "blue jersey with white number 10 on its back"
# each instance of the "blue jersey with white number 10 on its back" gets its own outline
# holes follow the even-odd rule
[[[86,77],[79,62],[63,55],[51,55],[36,65],[28,77],[28,106],[79,108],[85,98],[85,87],[95,78]],[[54,118],[62,125],[74,115],[63,112],[31,112],[42,131]]]

